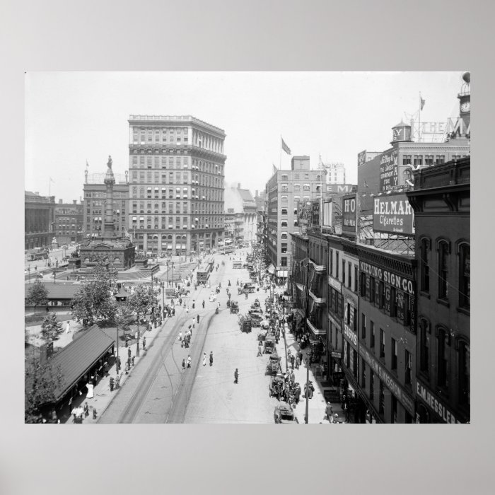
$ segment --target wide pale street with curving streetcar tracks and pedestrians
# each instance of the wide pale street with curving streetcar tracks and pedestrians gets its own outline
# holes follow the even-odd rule
[[[231,314],[226,305],[229,280],[232,300],[239,302],[240,313],[246,313],[255,298],[264,304],[267,294],[260,291],[250,294],[248,299],[238,297],[236,281],[248,281],[248,271],[233,269],[228,255],[215,255],[215,262],[220,266],[218,272],[211,273],[211,289],[198,288],[194,292],[193,288],[187,304],[191,308],[194,299],[195,309],[189,313],[175,306],[175,317],[167,320],[153,339],[146,359],[140,359],[133,368],[132,375],[103,412],[100,423],[274,422],[274,407],[279,402],[269,397],[267,356],[256,357],[257,328],[253,327],[251,333],[240,332],[238,315]],[[219,283],[217,301],[209,302],[210,291]],[[221,309],[216,315],[218,302]],[[190,348],[182,348],[178,334],[184,334],[198,314],[199,326],[192,331]],[[209,365],[211,351],[213,366]],[[187,361],[189,354],[192,367],[182,371],[182,359]],[[233,383],[235,368],[238,384]]]

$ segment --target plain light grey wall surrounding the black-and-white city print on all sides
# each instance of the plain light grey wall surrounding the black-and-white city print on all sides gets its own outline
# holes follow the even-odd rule
[[[488,1],[4,0],[0,493],[492,493],[493,19]],[[472,424],[24,425],[23,73],[37,70],[471,70]]]

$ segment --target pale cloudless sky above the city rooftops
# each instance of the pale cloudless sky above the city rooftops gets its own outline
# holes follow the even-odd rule
[[[419,109],[421,122],[458,115],[462,72],[28,72],[25,190],[72,202],[84,170],[129,167],[129,115],[192,115],[226,132],[226,185],[262,191],[293,155],[346,166],[390,147],[391,128]],[[405,113],[404,113],[405,112]],[[50,183],[50,177],[52,182]]]

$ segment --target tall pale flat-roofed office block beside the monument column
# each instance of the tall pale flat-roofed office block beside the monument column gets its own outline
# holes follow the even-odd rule
[[[129,117],[129,231],[138,250],[185,255],[223,241],[225,136],[190,115]]]

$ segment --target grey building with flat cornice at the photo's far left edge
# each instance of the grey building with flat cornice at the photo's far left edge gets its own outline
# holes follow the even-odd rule
[[[54,236],[55,197],[24,192],[24,249],[51,248]]]

